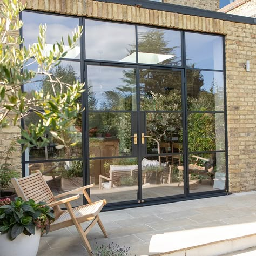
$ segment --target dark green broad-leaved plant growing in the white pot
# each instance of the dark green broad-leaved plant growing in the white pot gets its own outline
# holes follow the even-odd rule
[[[18,235],[35,234],[35,228],[41,228],[46,233],[55,219],[50,207],[45,203],[35,203],[34,200],[24,201],[17,197],[15,201],[0,206],[0,232],[7,233],[10,240]]]

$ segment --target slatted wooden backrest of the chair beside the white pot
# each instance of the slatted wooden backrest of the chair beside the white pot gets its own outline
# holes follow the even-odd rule
[[[33,199],[36,203],[43,201],[47,204],[56,201],[40,171],[24,178],[12,178],[11,182],[16,193],[23,200]]]

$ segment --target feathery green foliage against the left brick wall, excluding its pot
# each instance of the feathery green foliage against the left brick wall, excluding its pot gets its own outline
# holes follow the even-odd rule
[[[15,141],[11,142],[11,145],[8,147],[5,152],[5,157],[3,158],[3,163],[0,165],[0,196],[6,188],[9,188],[12,177],[19,177],[17,171],[12,170],[12,164],[10,164],[12,153],[16,152],[17,149],[14,146]]]

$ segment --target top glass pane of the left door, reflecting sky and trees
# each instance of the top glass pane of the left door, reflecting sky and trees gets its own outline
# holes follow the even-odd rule
[[[136,71],[129,68],[88,66],[91,110],[136,110]]]

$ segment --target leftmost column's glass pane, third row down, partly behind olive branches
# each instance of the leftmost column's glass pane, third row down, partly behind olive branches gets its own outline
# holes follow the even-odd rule
[[[30,123],[36,124],[39,122],[39,117],[36,113],[29,113],[23,118],[24,126],[28,126]],[[82,117],[79,116],[77,122],[73,126],[73,129],[77,131],[77,134],[70,134],[72,142],[78,141],[76,146],[69,147],[67,149],[56,149],[59,141],[52,137],[50,132],[46,132],[45,137],[50,139],[50,144],[45,147],[37,148],[30,147],[25,150],[25,161],[29,160],[51,160],[51,159],[69,159],[69,158],[81,158],[82,157]]]

